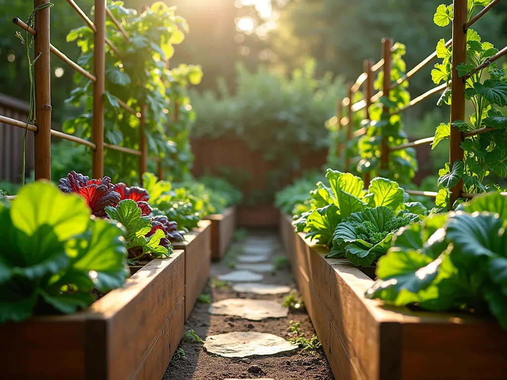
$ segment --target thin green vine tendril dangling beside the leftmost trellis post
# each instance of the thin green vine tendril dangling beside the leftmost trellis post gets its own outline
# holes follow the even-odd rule
[[[33,25],[35,23],[35,13],[37,11],[53,7],[53,3],[43,4],[39,7],[35,8],[33,12],[28,16],[28,19],[26,20],[26,24],[28,27],[33,28]],[[26,28],[28,29],[28,28]],[[35,115],[35,87],[33,83],[33,65],[37,60],[39,59],[40,55],[42,53],[37,54],[35,58],[33,58],[33,61],[30,59],[30,51],[33,46],[33,36],[28,32],[28,30],[25,30],[24,37],[21,35],[20,32],[16,32],[16,36],[21,40],[21,43],[25,46],[25,53],[26,53],[26,63],[28,64],[28,77],[30,79],[30,107],[28,109],[28,118],[26,119],[26,125],[25,125],[25,133],[23,135],[23,168],[21,171],[21,186],[25,185],[25,165],[26,165],[26,134],[28,132],[28,125],[30,122],[33,122],[33,125],[36,125],[36,115]],[[31,39],[29,38],[31,36]],[[28,42],[29,41],[29,42]],[[27,43],[28,42],[28,43]]]

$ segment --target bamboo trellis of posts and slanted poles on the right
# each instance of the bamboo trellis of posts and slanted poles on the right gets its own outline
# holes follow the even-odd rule
[[[456,66],[461,62],[466,62],[466,31],[469,27],[474,25],[482,16],[484,16],[487,12],[493,8],[499,0],[493,0],[488,6],[486,6],[481,12],[479,12],[475,17],[467,21],[467,0],[454,0],[454,22],[452,29],[452,39],[446,43],[446,47],[452,45],[452,79],[451,79],[451,135],[449,139],[450,144],[450,167],[453,167],[453,164],[457,160],[463,160],[464,152],[461,148],[461,143],[463,142],[464,137],[475,136],[481,133],[489,132],[493,128],[481,128],[474,131],[469,131],[463,133],[458,130],[458,128],[454,127],[452,123],[457,120],[465,119],[465,78],[460,78],[458,75],[458,70]],[[367,133],[367,127],[363,127],[357,129],[355,131],[352,130],[352,116],[354,112],[365,109],[368,116],[368,109],[370,105],[377,102],[382,96],[389,97],[389,92],[396,87],[402,85],[404,82],[409,81],[417,72],[419,72],[422,68],[426,67],[429,63],[431,63],[435,58],[437,58],[437,51],[431,53],[428,57],[422,60],[419,64],[417,64],[412,70],[407,72],[404,77],[400,78],[394,83],[391,83],[390,75],[384,75],[382,90],[374,94],[373,81],[374,74],[376,71],[383,68],[384,72],[391,71],[391,55],[393,52],[393,41],[392,39],[385,38],[382,40],[382,59],[377,63],[373,64],[370,60],[365,60],[364,62],[364,72],[359,75],[355,83],[349,83],[348,85],[348,97],[338,102],[337,113],[338,117],[341,118],[339,123],[339,128],[346,128],[346,139],[350,140],[353,137],[363,136]],[[488,67],[492,62],[495,62],[502,56],[507,54],[507,47],[500,50],[496,55],[490,57],[485,63],[476,67],[474,71],[470,75],[480,71]],[[363,87],[364,99],[359,100],[358,102],[352,103],[352,97],[355,93],[359,91]],[[407,109],[415,106],[421,101],[439,94],[443,92],[447,88],[447,84],[437,86],[426,91],[424,94],[412,99],[410,103],[406,106],[399,108],[390,113],[392,115],[398,115],[403,113]],[[343,107],[346,108],[346,116],[343,116]],[[384,112],[389,112],[389,110],[384,107]],[[366,120],[369,121],[369,120]],[[381,152],[380,152],[380,162],[381,167],[385,168],[387,162],[389,160],[389,153],[395,150],[406,149],[410,147],[417,147],[423,144],[432,144],[434,136],[430,136],[427,138],[419,139],[413,142],[409,142],[406,144],[391,146],[388,147],[386,141],[382,141]],[[338,152],[343,152],[344,145],[340,143],[341,146],[338,147]],[[345,162],[345,171],[348,171],[350,165],[353,163],[353,159],[351,160],[349,157],[346,158]],[[364,174],[364,181],[366,186],[370,183],[370,173]],[[463,181],[460,179],[458,184],[450,189],[450,207],[454,204],[454,202],[458,198],[473,198],[478,194],[467,194],[463,192]],[[407,190],[407,193],[414,196],[425,196],[430,198],[436,198],[438,193],[428,192],[428,191],[412,191]],[[503,196],[507,196],[507,193],[501,193]]]

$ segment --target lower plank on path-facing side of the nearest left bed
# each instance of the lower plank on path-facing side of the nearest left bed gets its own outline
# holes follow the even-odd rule
[[[160,379],[176,352],[179,341],[182,339],[185,329],[185,300],[182,297],[167,321],[159,337],[153,344],[142,367],[132,380]]]

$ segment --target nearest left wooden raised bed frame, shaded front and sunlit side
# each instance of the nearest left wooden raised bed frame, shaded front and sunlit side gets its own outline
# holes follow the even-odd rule
[[[0,326],[6,379],[153,380],[183,336],[185,253],[155,259],[87,310]]]

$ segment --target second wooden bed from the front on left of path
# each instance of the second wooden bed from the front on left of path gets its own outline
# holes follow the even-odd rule
[[[185,241],[173,244],[185,251],[185,320],[190,317],[195,302],[206,286],[211,268],[211,221],[200,220]]]

